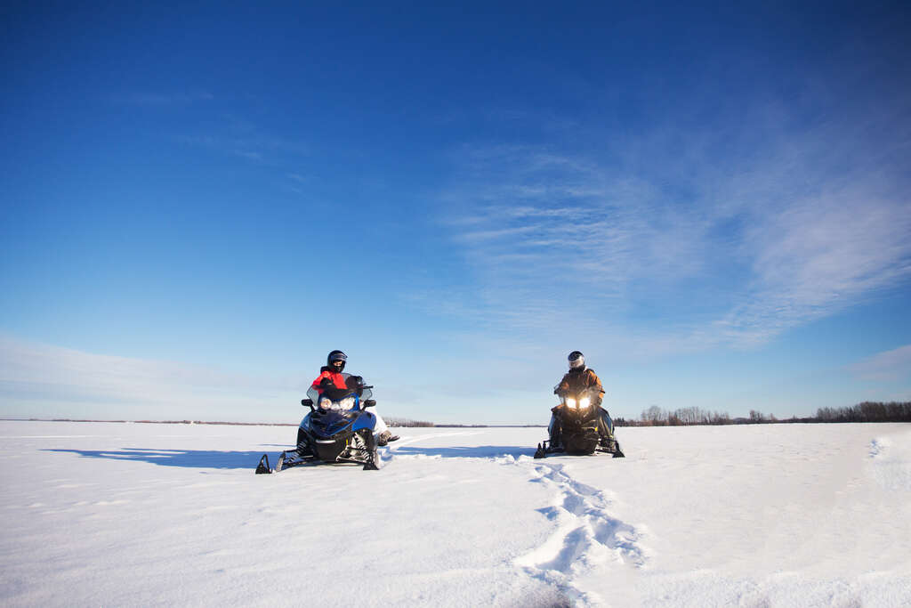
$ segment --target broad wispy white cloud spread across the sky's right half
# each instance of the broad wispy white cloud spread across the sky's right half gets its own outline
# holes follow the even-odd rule
[[[662,128],[600,155],[458,150],[442,201],[476,276],[468,313],[520,328],[571,311],[656,350],[750,346],[906,282],[906,163],[877,148],[882,125],[779,110],[755,109],[750,134]]]

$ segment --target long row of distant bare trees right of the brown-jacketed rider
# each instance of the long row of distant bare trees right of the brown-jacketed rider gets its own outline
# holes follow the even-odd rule
[[[727,412],[714,412],[699,407],[682,407],[666,411],[651,406],[640,419],[614,418],[617,427],[689,427],[694,425],[741,425],[789,422],[911,422],[911,402],[879,403],[865,401],[850,407],[820,407],[814,417],[776,418],[754,409],[750,417],[732,418]]]

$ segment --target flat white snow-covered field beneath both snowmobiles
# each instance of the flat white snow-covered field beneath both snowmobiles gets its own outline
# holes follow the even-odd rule
[[[254,475],[294,428],[0,422],[0,604],[911,605],[911,426],[398,432]]]

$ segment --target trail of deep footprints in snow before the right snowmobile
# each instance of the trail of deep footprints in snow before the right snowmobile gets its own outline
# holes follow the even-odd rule
[[[604,492],[573,479],[562,464],[532,464],[531,480],[555,490],[552,506],[539,511],[558,527],[542,546],[517,558],[517,566],[535,578],[556,584],[568,597],[585,605],[605,600],[597,593],[586,592],[579,582],[581,577],[604,567],[646,566],[649,558],[641,544],[643,533],[610,514],[610,500]]]

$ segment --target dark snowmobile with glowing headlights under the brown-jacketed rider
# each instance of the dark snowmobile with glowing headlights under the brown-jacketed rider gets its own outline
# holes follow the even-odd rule
[[[619,441],[601,441],[598,425],[601,417],[597,402],[599,391],[589,387],[578,394],[559,394],[560,405],[555,408],[556,424],[548,428],[549,438],[537,444],[536,459],[548,454],[590,455],[595,452],[613,454],[615,459],[624,458]],[[557,431],[557,429],[559,429]]]

